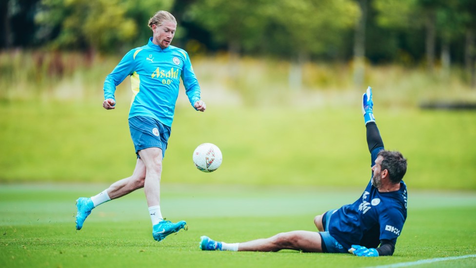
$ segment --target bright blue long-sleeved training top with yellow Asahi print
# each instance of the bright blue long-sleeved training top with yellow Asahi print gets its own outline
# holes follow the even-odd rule
[[[116,86],[127,76],[131,76],[133,93],[129,118],[148,116],[172,126],[180,78],[190,103],[200,100],[200,87],[187,52],[172,45],[162,49],[152,38],[129,51],[106,77],[104,99],[115,99]]]

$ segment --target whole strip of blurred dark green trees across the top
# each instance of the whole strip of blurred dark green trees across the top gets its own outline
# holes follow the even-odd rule
[[[6,12],[0,13],[0,20],[7,22],[0,30],[0,48],[33,46],[123,55],[151,36],[147,21],[162,9],[179,22],[173,44],[192,54],[219,53],[228,48],[234,54],[301,62],[349,61],[353,57],[353,29],[360,16],[357,2],[9,0],[3,4]],[[427,49],[429,54],[444,55],[446,66],[467,63],[470,72],[469,55],[474,50],[471,32],[476,25],[474,0],[368,2],[365,57],[371,62],[416,66],[431,59],[425,55],[427,39],[421,36],[432,28],[436,32],[431,36],[440,40],[435,40],[435,45],[428,43],[428,48],[436,49]],[[430,27],[433,24],[435,27]]]

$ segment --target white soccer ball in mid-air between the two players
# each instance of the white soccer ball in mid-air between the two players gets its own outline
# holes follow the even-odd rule
[[[200,144],[194,151],[195,166],[203,172],[213,172],[221,165],[221,151],[215,144]]]

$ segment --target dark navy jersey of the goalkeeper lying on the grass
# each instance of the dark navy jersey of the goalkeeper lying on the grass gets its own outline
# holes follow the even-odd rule
[[[382,149],[372,151],[372,165]],[[377,247],[383,239],[396,243],[407,218],[405,183],[400,183],[398,191],[381,193],[371,182],[356,202],[340,207],[330,218],[329,233],[347,249],[352,245]]]

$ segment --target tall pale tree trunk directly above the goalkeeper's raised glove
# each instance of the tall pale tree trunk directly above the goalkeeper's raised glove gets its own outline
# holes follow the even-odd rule
[[[365,75],[365,25],[367,23],[367,0],[358,0],[361,16],[356,23],[354,37],[354,83],[362,87]]]

